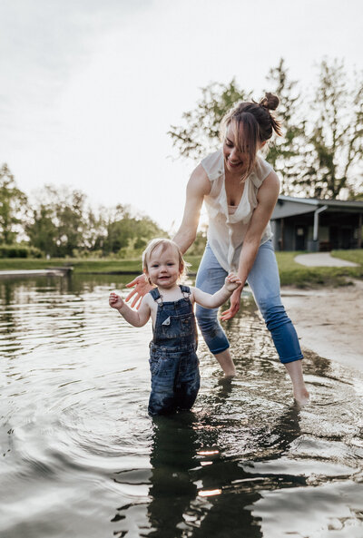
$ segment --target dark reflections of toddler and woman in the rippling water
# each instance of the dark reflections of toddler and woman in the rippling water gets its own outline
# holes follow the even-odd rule
[[[237,536],[242,529],[245,536],[262,536],[260,518],[251,514],[260,488],[291,487],[297,480],[289,475],[260,477],[248,465],[244,469],[239,458],[222,455],[225,426],[211,427],[206,417],[193,413],[153,419],[148,536]],[[272,457],[279,458],[299,431],[299,411],[292,406],[270,432]],[[258,445],[261,437],[262,432],[255,437]]]

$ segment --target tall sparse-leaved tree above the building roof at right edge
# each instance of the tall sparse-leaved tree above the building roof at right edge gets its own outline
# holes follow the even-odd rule
[[[311,110],[309,166],[299,184],[309,196],[357,197],[362,191],[363,79],[349,81],[343,61],[320,64],[319,85]]]

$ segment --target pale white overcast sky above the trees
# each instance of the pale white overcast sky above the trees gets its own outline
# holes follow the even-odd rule
[[[130,203],[166,230],[195,165],[166,132],[211,82],[254,90],[285,58],[302,88],[323,56],[362,69],[361,0],[0,0],[0,163],[30,194]]]

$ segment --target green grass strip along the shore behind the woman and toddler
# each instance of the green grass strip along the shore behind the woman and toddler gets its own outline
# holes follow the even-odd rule
[[[322,285],[347,286],[352,279],[363,279],[363,249],[334,250],[331,255],[358,263],[358,267],[320,267],[309,268],[299,265],[294,260],[301,252],[277,252],[280,280],[283,286],[298,288],[317,287]],[[186,256],[191,263],[190,273],[195,273],[201,256]],[[0,270],[11,269],[44,269],[71,265],[74,274],[128,272],[139,274],[142,270],[141,259],[0,259]]]

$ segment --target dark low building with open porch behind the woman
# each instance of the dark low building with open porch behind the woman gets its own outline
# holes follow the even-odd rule
[[[280,196],[271,217],[276,250],[362,248],[363,201]]]

